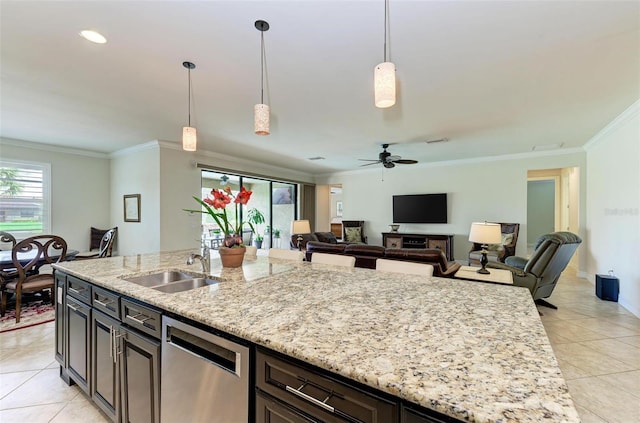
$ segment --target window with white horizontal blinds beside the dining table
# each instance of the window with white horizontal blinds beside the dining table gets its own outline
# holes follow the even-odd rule
[[[16,239],[49,233],[51,167],[0,160],[0,231]]]

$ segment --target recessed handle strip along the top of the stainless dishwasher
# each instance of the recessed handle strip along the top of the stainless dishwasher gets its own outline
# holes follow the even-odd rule
[[[241,352],[231,350],[229,347],[232,347],[232,345],[222,345],[231,344],[230,341],[222,338],[216,340],[215,338],[218,337],[214,335],[211,335],[212,339],[204,339],[171,325],[167,325],[165,333],[168,345],[218,366],[238,377],[242,375],[240,366],[242,362]]]

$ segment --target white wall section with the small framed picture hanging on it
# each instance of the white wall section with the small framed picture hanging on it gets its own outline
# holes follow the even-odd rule
[[[123,196],[140,194],[140,222],[124,221]],[[144,144],[111,160],[111,221],[118,226],[118,254],[160,251],[160,151]]]

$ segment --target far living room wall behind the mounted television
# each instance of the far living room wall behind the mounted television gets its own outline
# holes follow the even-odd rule
[[[342,184],[345,220],[365,220],[370,244],[382,245],[382,232],[392,223],[392,196],[396,194],[428,194],[446,192],[449,223],[402,224],[400,232],[454,234],[454,257],[467,260],[471,243],[469,228],[474,221],[520,223],[516,253],[526,255],[527,245],[527,171],[562,167],[584,168],[586,154],[569,151],[565,154],[531,154],[482,160],[438,164],[396,166],[380,169],[343,172],[327,176],[318,183]],[[584,189],[581,181],[581,190]],[[584,209],[584,194],[580,194],[580,209]],[[580,217],[584,228],[584,217]],[[579,231],[581,234],[582,229]],[[578,250],[579,255],[581,251]],[[583,263],[584,260],[579,260]]]

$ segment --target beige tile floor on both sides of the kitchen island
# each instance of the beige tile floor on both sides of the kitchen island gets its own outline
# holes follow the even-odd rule
[[[640,319],[567,269],[542,322],[584,423],[640,422]],[[0,334],[0,422],[106,422],[58,377],[54,325]]]

